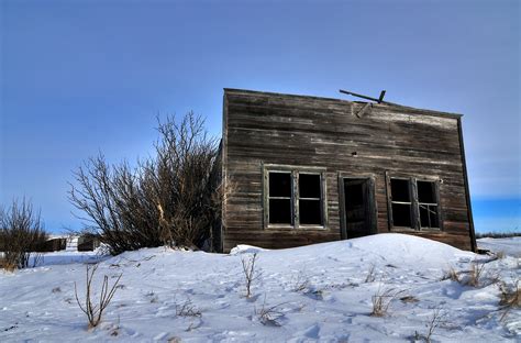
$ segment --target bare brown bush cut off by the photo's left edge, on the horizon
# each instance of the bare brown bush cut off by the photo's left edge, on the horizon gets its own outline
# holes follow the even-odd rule
[[[8,209],[0,207],[0,251],[3,252],[0,265],[3,268],[26,268],[32,255],[35,266],[41,255],[34,252],[44,246],[47,237],[40,212],[33,210],[31,201],[13,199]]]

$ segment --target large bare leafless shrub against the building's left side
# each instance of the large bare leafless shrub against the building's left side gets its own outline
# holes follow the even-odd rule
[[[69,200],[86,229],[112,254],[159,245],[201,247],[223,197],[215,193],[217,142],[192,112],[159,122],[155,157],[109,165],[103,155],[79,167]]]

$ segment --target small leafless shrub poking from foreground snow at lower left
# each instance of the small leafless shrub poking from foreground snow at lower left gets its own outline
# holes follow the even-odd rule
[[[76,283],[74,283],[74,292],[76,296],[76,302],[78,303],[81,311],[87,316],[87,320],[89,321],[89,329],[96,328],[100,322],[103,316],[103,311],[109,306],[110,301],[114,297],[115,291],[118,290],[118,284],[121,279],[123,274],[120,274],[115,279],[114,284],[109,287],[109,277],[107,275],[103,276],[103,283],[101,284],[101,292],[99,297],[99,301],[93,305],[93,296],[92,296],[92,279],[95,277],[96,270],[98,269],[99,265],[89,266],[87,265],[87,284],[86,284],[86,292],[85,292],[85,303],[81,305],[78,298],[78,290],[76,288]]]

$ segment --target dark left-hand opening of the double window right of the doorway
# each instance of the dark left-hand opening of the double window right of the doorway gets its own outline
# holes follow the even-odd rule
[[[391,179],[392,224],[412,228],[412,203],[410,182],[406,179]]]

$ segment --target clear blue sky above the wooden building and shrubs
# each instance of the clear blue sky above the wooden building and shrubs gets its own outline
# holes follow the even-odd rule
[[[221,133],[223,88],[464,113],[476,230],[521,223],[520,2],[0,0],[0,203],[78,229],[71,170],[152,153],[156,115]]]

